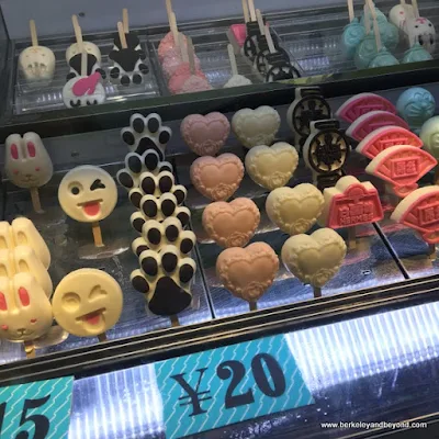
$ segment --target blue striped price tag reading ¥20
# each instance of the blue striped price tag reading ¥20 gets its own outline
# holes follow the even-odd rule
[[[314,404],[282,335],[156,364],[167,438]]]

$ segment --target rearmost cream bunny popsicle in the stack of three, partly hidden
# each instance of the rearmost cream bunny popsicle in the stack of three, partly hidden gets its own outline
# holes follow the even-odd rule
[[[19,217],[12,224],[7,221],[0,222],[0,250],[12,250],[18,246],[31,247],[44,268],[48,269],[50,252],[31,219]]]

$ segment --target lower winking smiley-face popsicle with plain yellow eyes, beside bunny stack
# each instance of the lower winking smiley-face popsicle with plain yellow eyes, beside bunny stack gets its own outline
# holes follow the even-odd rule
[[[55,290],[54,317],[68,333],[78,337],[105,339],[122,314],[120,284],[102,270],[83,268],[67,274]]]

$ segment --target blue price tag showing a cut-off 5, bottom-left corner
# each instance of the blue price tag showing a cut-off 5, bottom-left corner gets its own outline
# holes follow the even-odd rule
[[[1,387],[0,438],[67,438],[72,386],[67,376]]]

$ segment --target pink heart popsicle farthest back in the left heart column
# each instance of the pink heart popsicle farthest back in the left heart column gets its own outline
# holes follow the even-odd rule
[[[181,136],[199,156],[215,156],[230,134],[230,123],[222,113],[191,114],[183,119]]]

